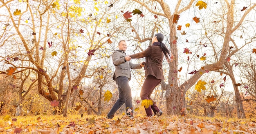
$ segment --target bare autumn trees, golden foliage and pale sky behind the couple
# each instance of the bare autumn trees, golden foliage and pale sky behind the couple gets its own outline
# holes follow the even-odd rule
[[[106,116],[118,41],[134,54],[161,32],[174,61],[152,98],[166,116],[255,118],[255,14],[253,0],[0,0],[0,115]],[[132,70],[135,115],[143,82]]]

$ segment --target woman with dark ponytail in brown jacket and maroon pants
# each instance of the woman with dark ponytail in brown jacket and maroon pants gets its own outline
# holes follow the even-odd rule
[[[171,53],[166,45],[162,43],[163,40],[164,35],[162,33],[157,33],[152,38],[152,45],[148,46],[146,50],[137,54],[130,55],[131,58],[146,57],[146,63],[144,66],[146,79],[142,85],[140,92],[141,100],[151,99],[150,96],[153,93],[155,87],[160,84],[161,80],[164,80],[164,74],[162,69],[162,62],[164,56],[166,57],[168,63],[171,62]],[[157,116],[160,116],[163,113],[157,108],[156,104],[153,103],[151,107],[149,106],[148,108],[145,108],[147,117],[151,117],[153,115],[151,109]]]

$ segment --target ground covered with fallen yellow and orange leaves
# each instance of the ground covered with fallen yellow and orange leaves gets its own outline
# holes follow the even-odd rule
[[[2,134],[256,134],[256,119],[70,115],[0,118]]]

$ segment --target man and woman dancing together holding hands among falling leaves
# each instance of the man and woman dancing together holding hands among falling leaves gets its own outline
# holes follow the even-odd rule
[[[130,118],[133,118],[132,92],[129,86],[129,81],[131,79],[130,69],[141,69],[144,67],[146,79],[142,85],[140,97],[141,100],[151,99],[150,96],[153,93],[155,87],[160,84],[161,80],[164,80],[162,69],[164,56],[166,57],[168,63],[173,60],[171,52],[168,50],[166,45],[162,43],[163,40],[164,35],[162,33],[157,33],[152,38],[152,45],[148,46],[146,50],[129,56],[126,56],[125,54],[127,49],[126,41],[119,41],[119,50],[116,50],[112,54],[112,61],[115,65],[115,73],[113,79],[118,85],[119,99],[117,102],[115,102],[110,112],[108,112],[108,119],[112,119],[115,115],[115,112],[117,112],[117,110],[124,103],[126,106],[126,114],[130,116]],[[130,62],[132,58],[144,57],[146,57],[146,62],[140,64],[132,64]],[[153,112],[154,115],[157,116],[160,116],[163,113],[161,110],[159,110],[155,103],[153,103],[152,106],[145,108],[145,110],[147,117],[151,117]]]

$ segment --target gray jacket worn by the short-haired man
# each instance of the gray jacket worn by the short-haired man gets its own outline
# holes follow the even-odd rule
[[[116,50],[112,54],[112,61],[115,65],[115,73],[113,80],[119,76],[126,76],[131,80],[130,69],[140,69],[142,68],[140,64],[132,64],[130,61],[125,60],[126,54],[121,50]]]

